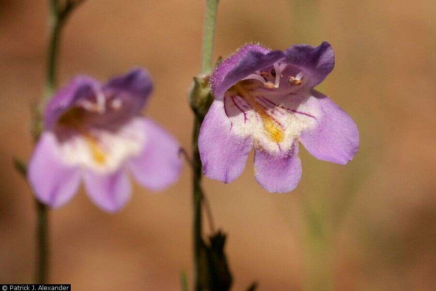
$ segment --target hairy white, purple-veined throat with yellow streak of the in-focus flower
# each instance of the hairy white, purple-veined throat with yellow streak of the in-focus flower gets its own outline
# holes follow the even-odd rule
[[[294,71],[276,63],[231,87],[224,95],[231,130],[240,136],[252,136],[257,146],[270,153],[291,149],[299,134],[314,126],[321,114],[316,105],[306,107],[308,101],[313,101],[309,90],[300,90],[307,78],[303,72],[291,75]],[[287,82],[280,86],[283,74]]]

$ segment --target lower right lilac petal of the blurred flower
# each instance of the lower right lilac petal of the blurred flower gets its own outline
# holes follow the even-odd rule
[[[165,129],[149,119],[141,119],[146,142],[139,156],[129,162],[129,168],[142,186],[160,191],[175,182],[180,175],[180,146]]]

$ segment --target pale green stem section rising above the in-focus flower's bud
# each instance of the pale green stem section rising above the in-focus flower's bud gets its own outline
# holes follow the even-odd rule
[[[206,0],[203,24],[202,73],[210,73],[213,69],[215,23],[217,22],[218,1],[219,0]]]

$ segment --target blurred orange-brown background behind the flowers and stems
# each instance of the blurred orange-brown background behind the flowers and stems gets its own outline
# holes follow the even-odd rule
[[[0,0],[0,282],[29,283],[35,215],[12,166],[31,155],[32,104],[45,78],[43,0]],[[200,69],[202,0],[88,0],[62,39],[60,84],[140,65],[156,90],[145,114],[190,148],[187,87]],[[327,40],[336,67],[319,90],[349,113],[361,146],[346,166],[301,147],[293,193],[268,194],[252,156],[230,185],[205,179],[216,224],[229,233],[234,290],[434,290],[436,280],[436,5],[431,0],[221,0],[216,57],[245,42],[273,49]],[[165,110],[162,110],[165,108]],[[121,212],[83,192],[51,212],[50,281],[73,290],[180,290],[191,280],[190,174],[163,193],[137,187]],[[207,230],[207,226],[206,226]]]

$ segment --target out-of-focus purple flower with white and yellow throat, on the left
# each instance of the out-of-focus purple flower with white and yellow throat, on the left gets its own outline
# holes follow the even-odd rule
[[[83,179],[91,200],[112,212],[129,200],[128,172],[151,190],[174,182],[181,169],[177,141],[140,116],[152,89],[148,73],[135,69],[104,85],[76,77],[60,90],[47,105],[29,164],[36,197],[61,207]]]

